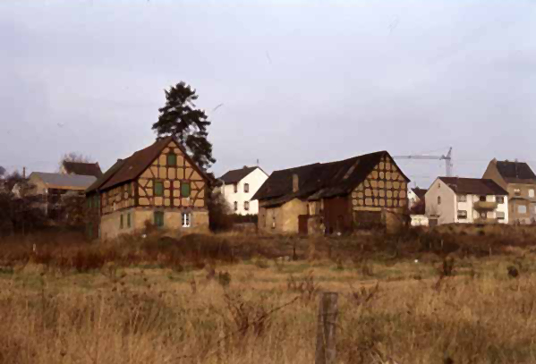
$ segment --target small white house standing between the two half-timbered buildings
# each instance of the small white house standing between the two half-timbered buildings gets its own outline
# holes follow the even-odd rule
[[[268,180],[268,174],[259,166],[248,167],[244,165],[243,168],[229,171],[217,180],[220,183],[221,193],[234,214],[259,214],[259,201],[250,200],[262,186],[262,183]]]

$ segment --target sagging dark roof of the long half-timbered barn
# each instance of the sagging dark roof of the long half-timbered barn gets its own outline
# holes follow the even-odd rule
[[[276,171],[251,199],[272,199],[270,204],[281,204],[294,198],[325,199],[345,195],[361,183],[374,166],[379,164],[381,157],[386,155],[389,156],[384,150],[337,162],[315,163]],[[297,192],[293,192],[294,174],[298,175]],[[409,179],[402,175],[409,182]]]

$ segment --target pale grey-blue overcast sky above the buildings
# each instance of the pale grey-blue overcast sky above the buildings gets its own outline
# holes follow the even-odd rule
[[[212,122],[212,171],[268,173],[378,150],[536,170],[536,2],[3,0],[0,165],[103,169],[155,139],[183,80]],[[397,159],[428,187],[440,160]]]

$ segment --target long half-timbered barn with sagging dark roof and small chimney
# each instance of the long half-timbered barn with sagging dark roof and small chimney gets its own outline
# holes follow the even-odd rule
[[[275,171],[251,199],[259,230],[345,233],[406,223],[407,183],[387,151]]]

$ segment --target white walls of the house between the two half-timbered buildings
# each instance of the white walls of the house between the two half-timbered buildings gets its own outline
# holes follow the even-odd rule
[[[236,192],[234,192],[234,184],[226,184],[225,188],[222,186],[220,190],[232,212],[238,215],[257,215],[259,214],[259,201],[257,199],[251,200],[251,198],[266,180],[268,180],[268,175],[262,172],[260,168],[256,168],[237,183]],[[249,192],[244,192],[244,184],[246,183],[249,184]],[[244,208],[245,201],[250,202],[249,210]],[[237,203],[237,210],[234,210],[234,202]]]

